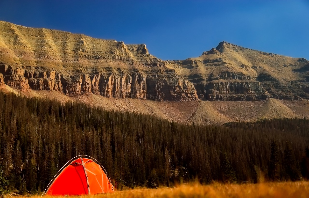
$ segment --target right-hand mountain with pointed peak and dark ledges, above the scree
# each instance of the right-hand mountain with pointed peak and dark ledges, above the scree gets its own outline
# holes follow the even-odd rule
[[[309,99],[309,61],[221,42],[200,57],[167,61],[180,65],[205,100]]]

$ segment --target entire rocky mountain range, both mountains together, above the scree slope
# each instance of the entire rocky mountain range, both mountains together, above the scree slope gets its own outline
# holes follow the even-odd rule
[[[0,21],[0,88],[156,101],[309,99],[309,62],[221,42],[162,61],[146,45]],[[284,74],[284,75],[282,75]]]

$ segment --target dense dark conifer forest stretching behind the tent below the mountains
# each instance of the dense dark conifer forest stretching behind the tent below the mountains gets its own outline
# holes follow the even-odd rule
[[[0,93],[0,188],[6,180],[8,188],[21,194],[42,192],[57,171],[80,154],[100,161],[118,188],[193,180],[256,182],[261,175],[297,180],[301,173],[308,177],[308,129],[305,118],[184,125]]]

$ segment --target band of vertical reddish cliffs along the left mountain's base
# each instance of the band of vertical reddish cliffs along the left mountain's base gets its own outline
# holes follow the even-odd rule
[[[33,67],[12,68],[0,65],[0,71],[5,74],[3,79],[0,73],[0,83],[2,77],[3,84],[23,92],[32,89],[59,91],[68,96],[93,93],[104,97],[157,101],[197,100],[194,85],[183,76],[176,75],[173,70],[168,70],[167,73],[163,70],[154,70],[149,75],[140,72],[127,74],[95,72],[92,75],[74,72],[74,75],[69,75],[58,71],[36,71]]]

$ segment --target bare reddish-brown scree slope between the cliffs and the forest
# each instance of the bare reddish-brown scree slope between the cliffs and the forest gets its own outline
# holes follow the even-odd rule
[[[15,90],[15,92],[19,92]],[[23,94],[23,93],[21,93]],[[262,118],[309,117],[309,101],[268,99],[266,101],[150,101],[132,98],[116,99],[100,95],[68,97],[56,91],[31,91],[28,97],[48,97],[79,101],[106,110],[150,114],[179,123],[224,124],[256,121]]]

